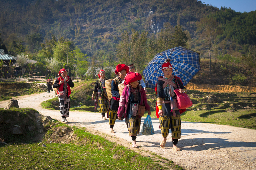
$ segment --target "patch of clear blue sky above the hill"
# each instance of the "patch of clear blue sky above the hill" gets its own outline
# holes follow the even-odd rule
[[[215,6],[217,8],[232,8],[236,12],[251,12],[256,10],[256,0],[201,0],[202,3]]]

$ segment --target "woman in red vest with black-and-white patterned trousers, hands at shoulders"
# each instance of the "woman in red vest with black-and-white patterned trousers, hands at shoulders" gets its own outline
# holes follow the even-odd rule
[[[60,102],[60,114],[61,122],[67,123],[67,117],[69,117],[69,108],[70,108],[70,87],[74,87],[72,79],[67,76],[67,70],[65,68],[60,69],[58,78],[53,84],[53,88],[59,88],[57,95]]]

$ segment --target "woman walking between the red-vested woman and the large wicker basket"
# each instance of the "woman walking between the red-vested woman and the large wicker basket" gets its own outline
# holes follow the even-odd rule
[[[108,111],[109,102],[108,102],[108,95],[105,87],[105,80],[107,80],[107,78],[105,77],[105,71],[100,70],[98,76],[100,79],[96,81],[95,88],[92,94],[92,100],[94,100],[94,96],[96,95],[95,101],[96,102],[97,100],[99,101],[99,113],[101,113],[101,118],[104,120],[107,120],[105,113]]]

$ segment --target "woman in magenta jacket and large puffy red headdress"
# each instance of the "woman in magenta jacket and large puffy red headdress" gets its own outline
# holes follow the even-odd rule
[[[150,106],[147,102],[146,93],[143,87],[139,84],[142,76],[140,73],[127,73],[124,79],[124,90],[120,97],[117,116],[119,119],[124,115],[125,123],[129,131],[129,136],[132,138],[132,147],[138,147],[136,144],[137,134],[140,132],[141,116],[137,115],[138,108],[144,106],[143,112],[148,111],[151,115]],[[140,109],[139,109],[140,110]]]

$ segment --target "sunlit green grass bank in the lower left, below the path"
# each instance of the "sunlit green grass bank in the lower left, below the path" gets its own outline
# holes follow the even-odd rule
[[[126,147],[110,142],[103,137],[93,135],[85,128],[76,128],[72,141],[50,143],[54,129],[68,127],[58,124],[46,134],[44,144],[1,145],[0,169],[166,169],[152,158],[142,156]],[[71,127],[68,127],[71,129]],[[56,138],[61,140],[60,135]],[[55,139],[56,139],[55,138]],[[167,169],[176,169],[168,165]],[[172,168],[173,167],[173,168]]]

